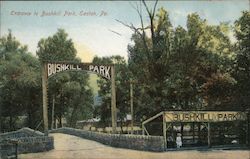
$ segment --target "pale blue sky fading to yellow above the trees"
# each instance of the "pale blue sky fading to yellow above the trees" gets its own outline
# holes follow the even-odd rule
[[[140,19],[132,6],[139,1],[0,1],[0,36],[8,29],[21,44],[36,54],[41,38],[47,38],[63,28],[77,49],[83,62],[96,56],[121,55],[127,58],[132,30],[116,19],[140,26]],[[149,8],[154,1],[147,2]],[[157,8],[169,12],[173,27],[186,27],[187,15],[197,12],[211,25],[220,22],[233,24],[243,10],[249,10],[248,0],[159,1]],[[148,22],[143,8],[143,18]],[[44,14],[45,13],[45,14]]]

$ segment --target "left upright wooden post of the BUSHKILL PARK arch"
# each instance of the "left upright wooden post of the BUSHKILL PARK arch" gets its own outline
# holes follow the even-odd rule
[[[48,74],[47,64],[43,63],[42,69],[42,89],[43,89],[43,124],[44,124],[44,135],[48,136]]]

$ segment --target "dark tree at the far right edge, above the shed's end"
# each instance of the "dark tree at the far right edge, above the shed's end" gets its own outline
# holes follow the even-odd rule
[[[236,101],[238,107],[245,110],[250,107],[250,12],[242,12],[235,21],[236,63],[234,76],[237,79]]]

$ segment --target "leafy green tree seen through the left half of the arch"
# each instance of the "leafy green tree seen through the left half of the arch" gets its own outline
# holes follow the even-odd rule
[[[77,120],[93,117],[94,97],[88,80],[87,74],[71,72],[70,80],[62,86],[62,94],[65,98],[64,105],[68,106],[65,117],[70,127],[75,127]]]

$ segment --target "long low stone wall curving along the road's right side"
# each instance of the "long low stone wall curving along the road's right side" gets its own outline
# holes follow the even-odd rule
[[[163,137],[161,136],[107,134],[65,127],[52,130],[50,132],[74,135],[120,148],[129,148],[144,151],[164,151],[164,141]]]

